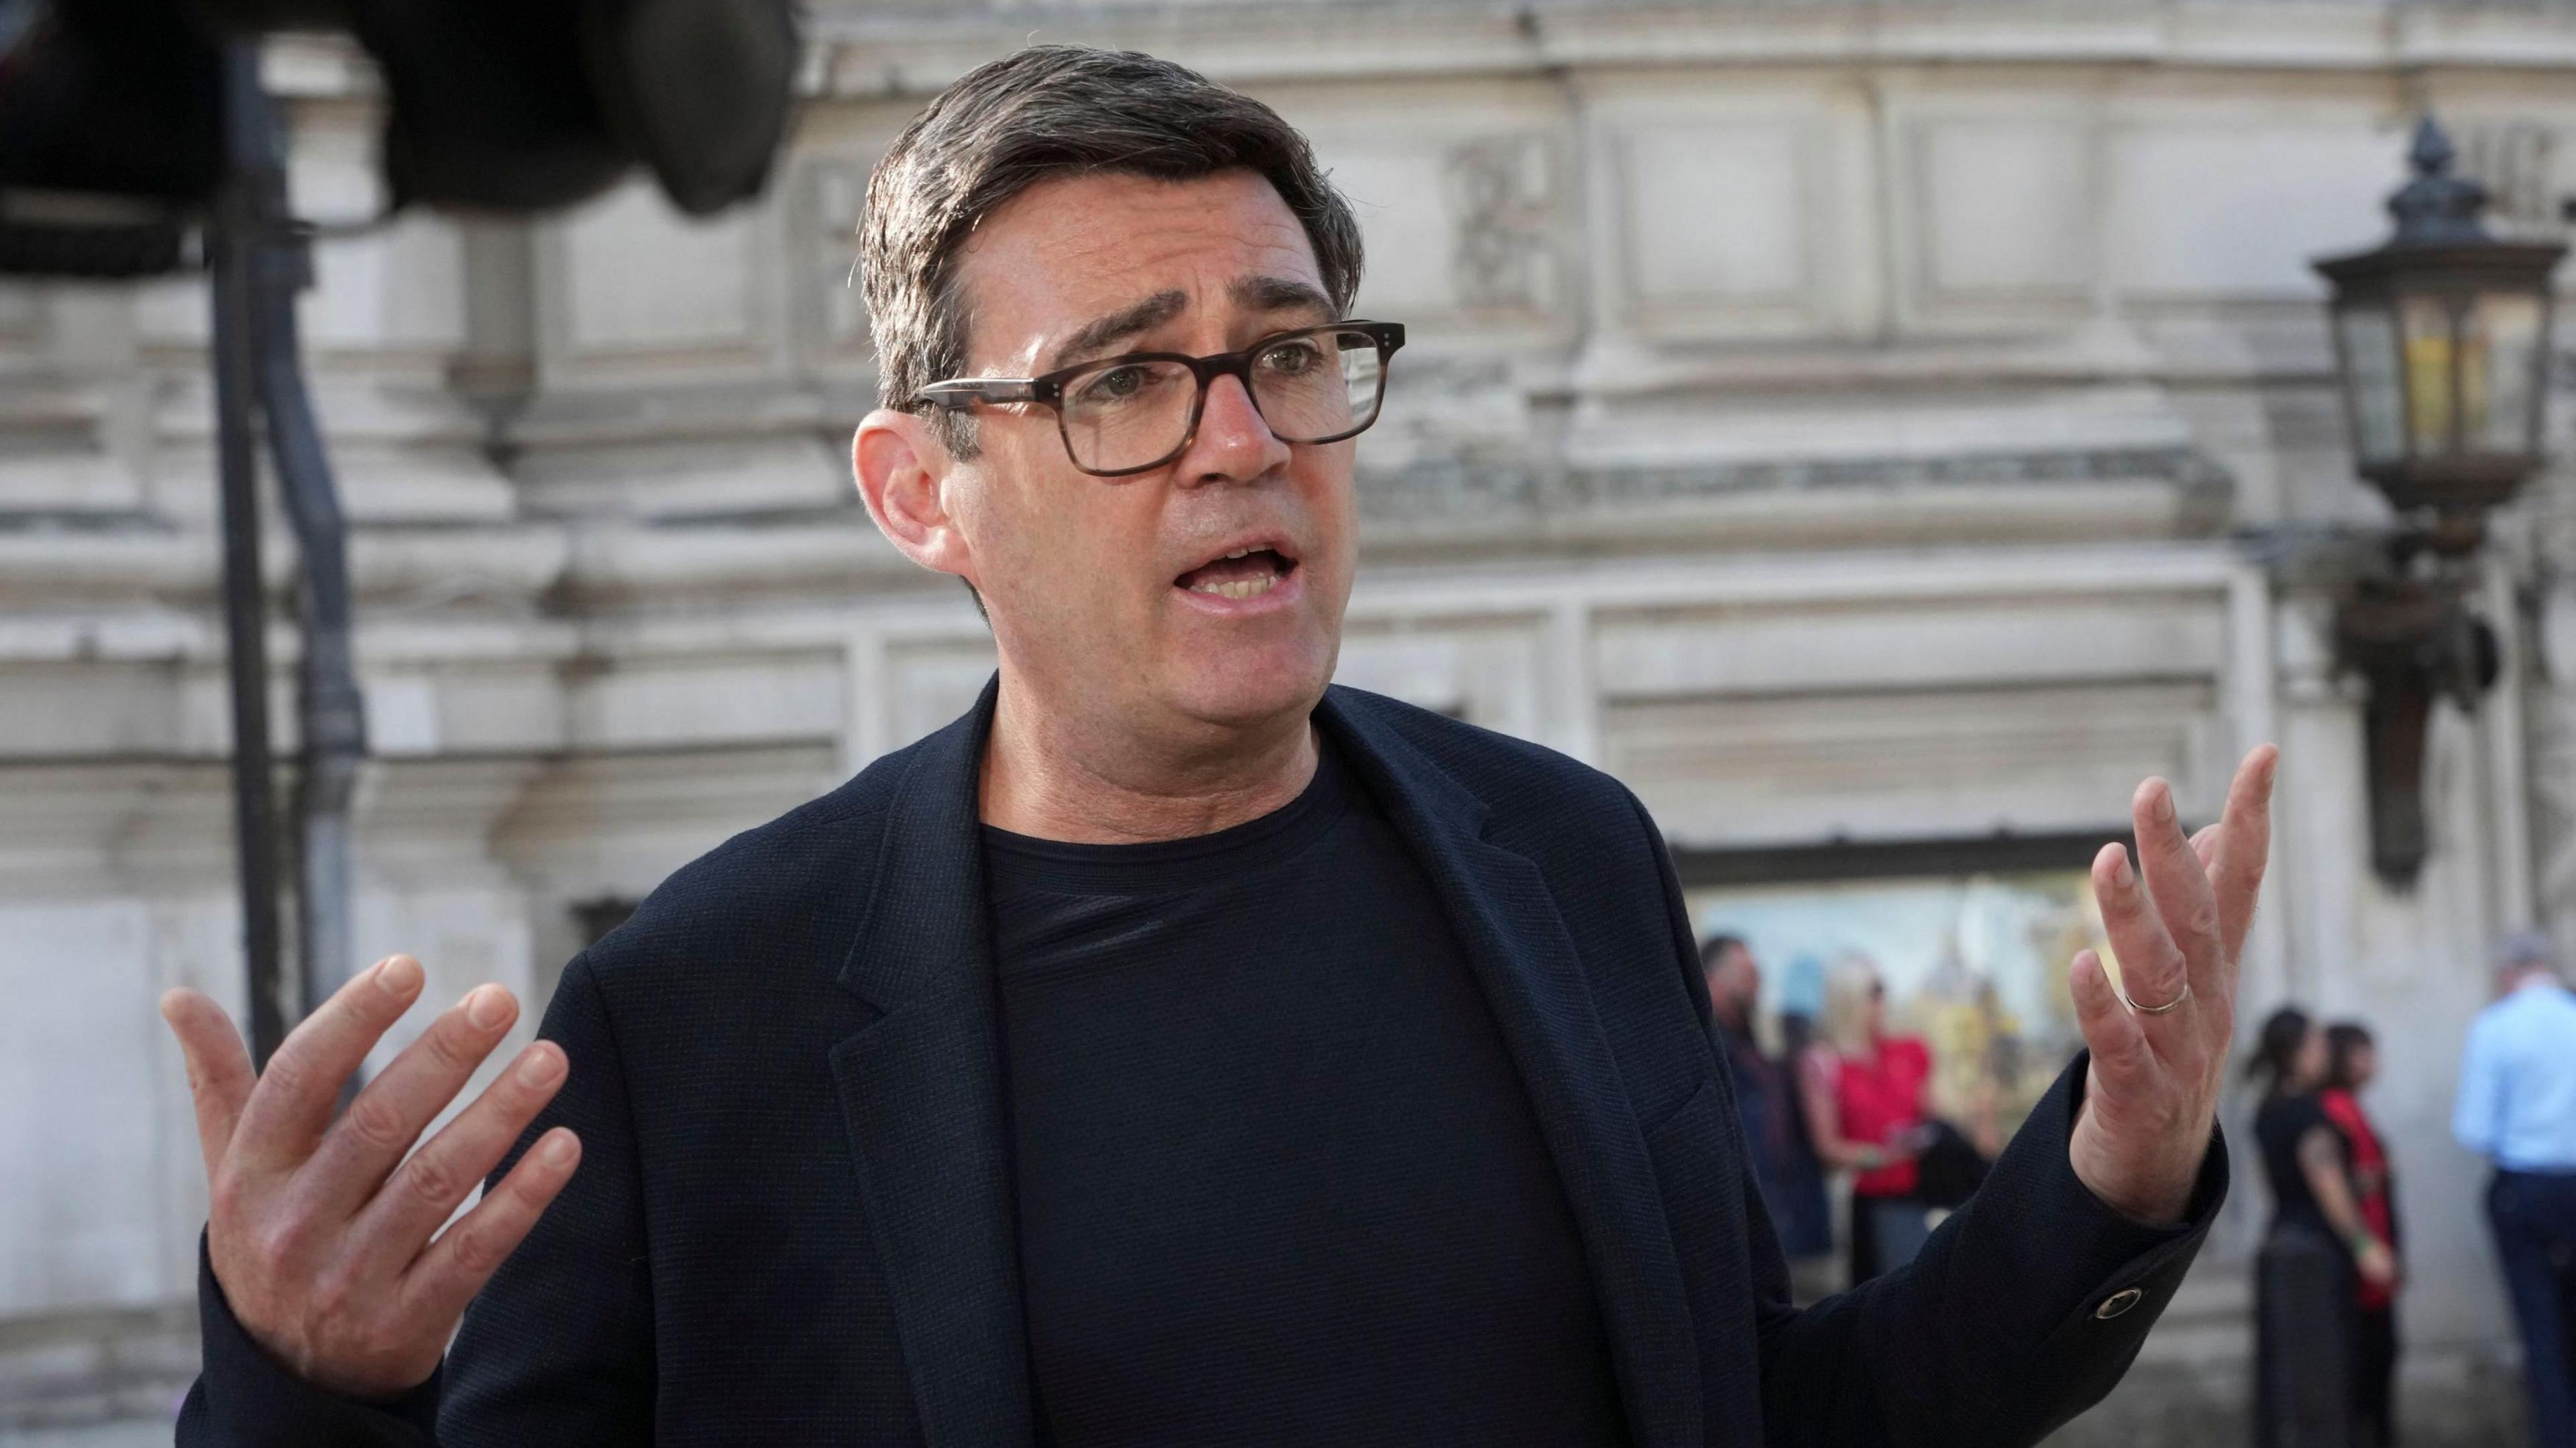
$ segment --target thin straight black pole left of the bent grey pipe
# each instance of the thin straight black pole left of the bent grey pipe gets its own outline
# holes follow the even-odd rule
[[[260,198],[252,170],[270,134],[260,103],[260,52],[224,46],[227,180],[209,227],[214,263],[214,423],[224,497],[224,665],[232,683],[232,832],[242,884],[242,958],[250,974],[250,1059],[286,1038],[278,971],[278,806],[268,757],[268,608],[260,580],[258,392]]]

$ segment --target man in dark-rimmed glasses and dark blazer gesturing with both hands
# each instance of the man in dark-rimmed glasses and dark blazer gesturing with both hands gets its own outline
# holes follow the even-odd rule
[[[994,683],[672,876],[410,1159],[507,995],[340,1121],[417,964],[258,1082],[173,995],[185,1443],[2030,1443],[2112,1386],[2226,1185],[2269,752],[2195,840],[2138,791],[2094,881],[2143,1010],[2079,956],[2092,1056],[1991,1201],[1798,1314],[1636,799],[1327,691],[1401,327],[1342,325],[1306,142],[1028,49],[896,139],[863,265],[858,487]]]

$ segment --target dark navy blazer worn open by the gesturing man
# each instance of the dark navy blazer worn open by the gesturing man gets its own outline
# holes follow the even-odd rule
[[[582,1167],[438,1378],[394,1404],[304,1389],[209,1273],[180,1443],[1030,1443],[976,835],[992,701],[690,863],[564,969],[544,1036],[572,1080],[531,1139],[577,1129]],[[1911,1268],[1795,1311],[1636,796],[1350,688],[1316,724],[1520,1067],[1633,1443],[2032,1443],[2110,1391],[2223,1152],[2187,1226],[2117,1219],[2066,1162],[2079,1059]]]

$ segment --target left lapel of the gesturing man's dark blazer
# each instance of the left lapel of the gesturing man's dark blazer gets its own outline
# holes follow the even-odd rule
[[[999,1000],[976,778],[994,685],[925,739],[889,804],[840,984],[884,1015],[832,1049],[868,1232],[930,1448],[1033,1438]]]

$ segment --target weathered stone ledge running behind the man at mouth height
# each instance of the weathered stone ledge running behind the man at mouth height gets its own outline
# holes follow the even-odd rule
[[[1672,546],[1875,546],[2205,536],[2231,482],[2190,448],[1574,466],[1425,456],[1363,472],[1373,549],[1463,557]],[[265,549],[273,608],[294,557]],[[585,618],[721,600],[909,593],[925,575],[855,508],[801,518],[518,520],[350,533],[350,575],[376,616]],[[0,528],[0,616],[211,605],[214,536],[131,526]],[[5,654],[5,647],[0,647]]]

